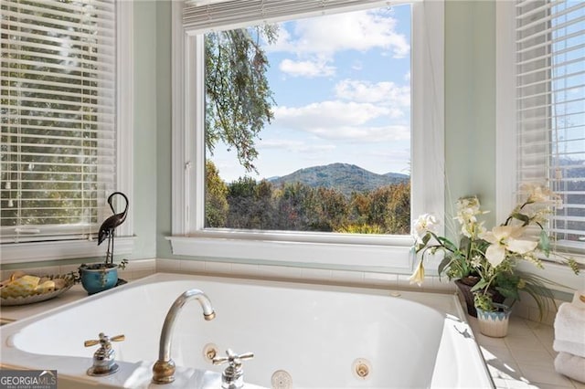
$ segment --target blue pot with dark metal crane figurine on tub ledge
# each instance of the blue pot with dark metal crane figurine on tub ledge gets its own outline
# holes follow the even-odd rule
[[[115,208],[112,205],[112,199],[115,195],[121,195],[125,201],[124,209],[121,213],[116,214]],[[108,204],[112,209],[113,215],[108,217],[100,226],[98,234],[98,246],[108,239],[108,248],[106,250],[106,258],[101,263],[82,264],[79,268],[80,280],[83,288],[89,294],[100,292],[101,290],[110,289],[116,286],[119,282],[118,268],[126,268],[128,264],[127,259],[122,259],[120,264],[113,263],[113,243],[115,236],[115,229],[120,226],[128,214],[128,197],[122,192],[114,192],[108,197]]]

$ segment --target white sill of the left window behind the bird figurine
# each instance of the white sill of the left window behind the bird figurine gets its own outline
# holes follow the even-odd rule
[[[134,237],[116,237],[115,254],[133,252]],[[97,240],[69,240],[54,242],[30,242],[3,244],[2,263],[40,262],[51,259],[103,257],[106,245],[98,246]]]

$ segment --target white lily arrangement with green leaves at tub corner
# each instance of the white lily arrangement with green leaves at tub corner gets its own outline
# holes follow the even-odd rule
[[[500,294],[512,304],[520,299],[519,292],[526,291],[537,301],[542,314],[548,297],[552,297],[546,284],[551,282],[535,274],[525,274],[516,269],[521,260],[543,268],[541,258],[555,258],[565,262],[575,274],[579,265],[573,258],[553,253],[550,238],[545,229],[547,215],[561,206],[558,195],[546,188],[525,185],[526,200],[516,205],[500,226],[487,230],[479,218],[486,214],[480,208],[476,196],[464,197],[457,202],[455,219],[460,226],[460,240],[456,245],[437,233],[437,220],[422,215],[412,227],[415,238],[413,250],[420,254],[420,262],[410,277],[410,283],[421,285],[424,279],[426,254],[441,252],[444,257],[438,268],[439,275],[449,279],[475,277],[472,288],[475,307],[495,310],[494,298]]]

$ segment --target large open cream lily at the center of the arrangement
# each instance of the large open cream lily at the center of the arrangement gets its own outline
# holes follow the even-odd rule
[[[521,226],[495,226],[492,231],[480,236],[491,243],[485,250],[485,258],[493,267],[502,263],[506,250],[523,255],[537,248],[538,242],[518,239],[522,237],[523,231],[524,228]]]

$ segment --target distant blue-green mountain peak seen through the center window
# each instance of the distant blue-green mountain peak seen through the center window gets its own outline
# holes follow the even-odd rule
[[[408,181],[410,176],[400,173],[377,174],[362,169],[355,164],[331,163],[325,166],[313,166],[297,170],[282,177],[268,179],[275,186],[286,183],[301,183],[313,187],[335,188],[345,195],[352,192],[366,192],[380,186]]]

